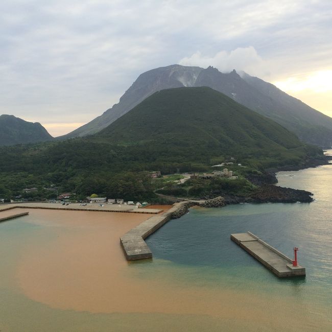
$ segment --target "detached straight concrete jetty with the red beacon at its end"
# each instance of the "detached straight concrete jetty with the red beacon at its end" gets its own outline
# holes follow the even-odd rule
[[[273,248],[263,240],[260,240],[251,232],[230,234],[230,239],[249,252],[278,277],[305,275],[305,268],[300,265],[293,267],[293,260],[291,258]]]

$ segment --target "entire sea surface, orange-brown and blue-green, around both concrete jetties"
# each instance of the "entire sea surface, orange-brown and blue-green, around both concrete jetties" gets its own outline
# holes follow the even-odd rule
[[[142,262],[118,244],[127,214],[0,224],[1,332],[331,331],[332,164],[277,177],[314,202],[192,208],[147,239]],[[297,246],[306,276],[277,278],[230,241],[248,230],[290,257]]]

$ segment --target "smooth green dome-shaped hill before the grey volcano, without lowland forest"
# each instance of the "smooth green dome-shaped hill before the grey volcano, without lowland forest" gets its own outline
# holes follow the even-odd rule
[[[96,137],[182,162],[234,155],[269,167],[307,153],[295,134],[208,87],[156,92]]]

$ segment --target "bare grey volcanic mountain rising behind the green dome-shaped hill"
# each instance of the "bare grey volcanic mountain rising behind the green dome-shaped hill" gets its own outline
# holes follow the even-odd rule
[[[107,127],[156,91],[177,87],[207,86],[226,94],[234,101],[272,118],[307,142],[330,145],[332,118],[320,113],[300,100],[289,96],[276,86],[233,70],[224,74],[208,67],[171,65],[141,74],[120,98],[120,102],[88,124],[59,138],[85,136]]]

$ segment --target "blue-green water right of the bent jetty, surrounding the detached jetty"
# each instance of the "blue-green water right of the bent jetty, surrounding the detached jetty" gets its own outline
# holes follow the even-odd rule
[[[193,208],[164,225],[147,243],[155,258],[171,260],[179,269],[192,267],[199,277],[193,275],[191,282],[270,295],[274,301],[287,298],[301,305],[303,316],[325,319],[332,330],[332,165],[280,172],[277,177],[280,186],[315,193],[315,201]],[[306,276],[277,278],[230,241],[231,233],[248,230],[290,257],[293,247],[299,247]],[[313,307],[306,312],[309,304]]]

